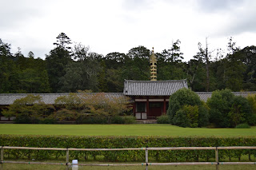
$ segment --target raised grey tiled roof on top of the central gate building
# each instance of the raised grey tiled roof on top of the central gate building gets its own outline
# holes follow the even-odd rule
[[[188,88],[186,80],[130,81],[125,80],[123,94],[127,96],[170,96],[178,89]]]

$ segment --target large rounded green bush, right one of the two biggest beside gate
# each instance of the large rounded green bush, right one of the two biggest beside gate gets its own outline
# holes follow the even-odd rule
[[[218,128],[234,128],[238,124],[254,125],[256,117],[244,97],[234,96],[229,89],[216,90],[208,99],[210,122]]]

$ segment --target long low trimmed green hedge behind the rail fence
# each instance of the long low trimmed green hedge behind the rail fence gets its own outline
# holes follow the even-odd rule
[[[0,146],[46,148],[144,148],[191,146],[254,146],[256,137],[171,137],[171,136],[14,136],[0,135]],[[5,149],[5,159],[53,159],[65,157],[65,151]],[[219,159],[256,157],[255,150],[220,150]],[[149,151],[150,160],[214,161],[212,150]],[[74,159],[107,161],[145,161],[145,151],[70,151]]]

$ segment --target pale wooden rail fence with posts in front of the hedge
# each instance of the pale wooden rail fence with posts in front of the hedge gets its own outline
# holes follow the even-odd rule
[[[12,147],[12,146],[0,146],[1,148],[1,161],[3,163],[13,164],[70,164],[69,151],[145,151],[145,163],[141,164],[78,164],[83,166],[146,166],[146,169],[150,165],[216,165],[218,169],[219,164],[255,164],[256,162],[219,162],[218,150],[231,150],[231,149],[256,149],[256,146],[229,146],[229,147],[169,147],[169,148],[32,148],[32,147]],[[26,150],[52,150],[52,151],[66,151],[66,163],[47,163],[47,162],[25,162],[25,161],[5,161],[4,149],[26,149]],[[215,150],[214,162],[170,162],[170,163],[150,163],[148,159],[149,151],[162,151],[162,150]]]

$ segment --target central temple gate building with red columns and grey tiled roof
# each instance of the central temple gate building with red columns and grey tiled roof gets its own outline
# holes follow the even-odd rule
[[[182,88],[188,88],[186,80],[125,80],[123,95],[133,99],[136,119],[156,119],[166,113],[170,95]]]

